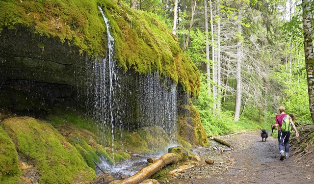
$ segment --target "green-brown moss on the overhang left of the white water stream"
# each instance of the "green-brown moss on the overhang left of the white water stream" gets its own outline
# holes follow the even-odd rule
[[[0,31],[23,26],[43,36],[58,37],[62,43],[71,41],[81,52],[105,53],[105,25],[97,6],[97,0],[0,1]]]

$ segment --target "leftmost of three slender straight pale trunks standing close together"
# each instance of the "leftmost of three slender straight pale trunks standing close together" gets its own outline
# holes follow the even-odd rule
[[[208,33],[208,13],[207,13],[207,0],[204,0],[204,17],[205,17],[205,34],[206,34],[206,73],[208,83],[208,94],[210,96],[210,66],[209,66],[209,33]]]

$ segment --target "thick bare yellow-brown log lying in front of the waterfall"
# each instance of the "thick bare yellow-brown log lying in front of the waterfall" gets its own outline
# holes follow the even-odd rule
[[[159,171],[162,167],[168,165],[168,164],[173,164],[177,163],[179,161],[179,158],[176,154],[174,153],[167,153],[160,158],[158,158],[154,163],[151,165],[143,168],[140,170],[138,173],[134,174],[130,178],[127,178],[122,181],[113,181],[110,184],[138,184],[148,177],[152,176],[155,174],[157,171]]]

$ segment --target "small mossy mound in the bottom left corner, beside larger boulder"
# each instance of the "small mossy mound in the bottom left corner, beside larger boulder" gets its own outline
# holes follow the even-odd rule
[[[1,127],[0,145],[0,183],[19,183],[22,172],[18,165],[18,153],[11,138]]]

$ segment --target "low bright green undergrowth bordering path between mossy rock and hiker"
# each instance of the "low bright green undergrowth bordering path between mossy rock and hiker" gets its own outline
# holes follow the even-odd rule
[[[247,105],[241,114],[240,121],[234,121],[234,103],[225,102],[222,110],[215,116],[212,115],[212,97],[208,95],[208,84],[206,75],[201,75],[201,91],[198,99],[193,104],[200,112],[200,119],[204,129],[209,135],[223,135],[237,131],[250,131],[267,129],[270,130],[271,122],[264,120],[261,109],[254,105]]]

